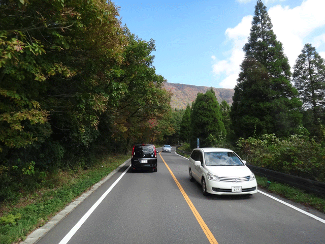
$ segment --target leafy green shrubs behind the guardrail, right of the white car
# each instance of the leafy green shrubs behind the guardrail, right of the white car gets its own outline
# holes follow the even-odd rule
[[[271,134],[240,138],[237,145],[251,165],[325,182],[325,147],[306,137]]]

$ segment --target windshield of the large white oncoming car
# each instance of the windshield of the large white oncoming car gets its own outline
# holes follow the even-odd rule
[[[206,166],[244,165],[235,153],[228,151],[214,151],[211,153],[204,153],[204,159]]]

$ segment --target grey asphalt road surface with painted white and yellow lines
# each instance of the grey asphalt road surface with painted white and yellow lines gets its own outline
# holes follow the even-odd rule
[[[204,197],[187,159],[159,155],[158,172],[132,173],[127,162],[37,243],[325,243],[320,212],[262,191]]]

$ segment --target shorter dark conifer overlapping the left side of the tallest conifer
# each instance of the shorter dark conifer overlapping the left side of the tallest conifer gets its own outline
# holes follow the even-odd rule
[[[273,127],[268,72],[253,58],[245,58],[241,69],[238,80],[245,78],[245,82],[238,82],[235,86],[230,112],[234,130],[237,138],[253,136],[256,130],[265,134]]]

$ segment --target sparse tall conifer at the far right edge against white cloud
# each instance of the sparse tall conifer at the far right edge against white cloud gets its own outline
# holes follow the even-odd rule
[[[318,119],[324,119],[325,64],[311,44],[304,46],[296,60],[293,82],[303,101],[303,109],[312,110],[312,121],[307,124],[318,125]],[[317,131],[315,127],[308,129]]]

